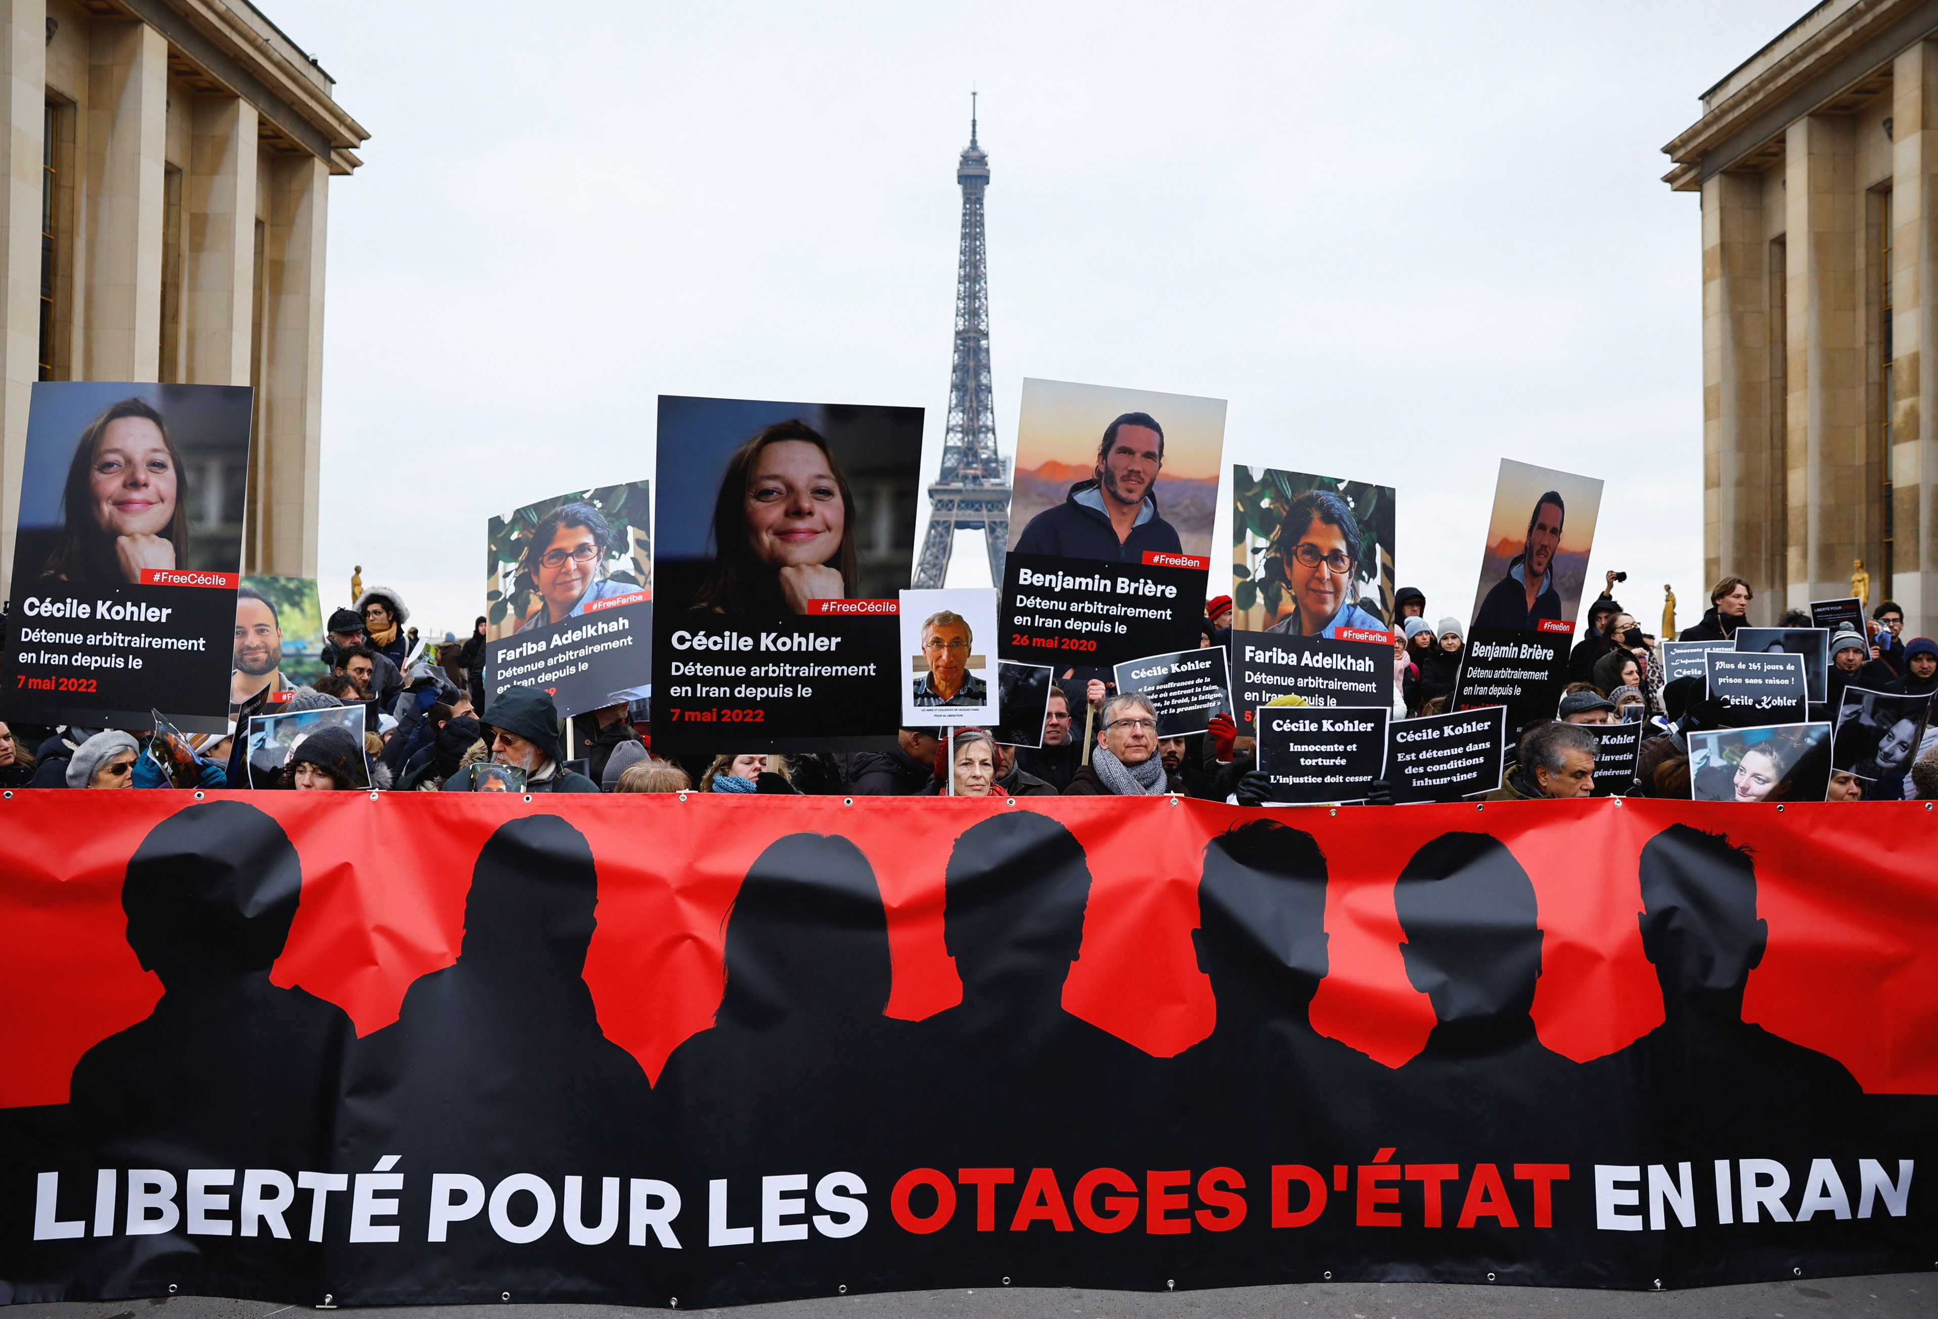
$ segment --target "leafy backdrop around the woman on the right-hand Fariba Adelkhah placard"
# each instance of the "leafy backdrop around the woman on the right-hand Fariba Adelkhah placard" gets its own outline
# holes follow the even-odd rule
[[[1233,628],[1264,631],[1293,612],[1285,566],[1267,554],[1285,507],[1306,490],[1345,498],[1366,550],[1353,575],[1353,598],[1380,618],[1393,618],[1393,488],[1271,467],[1231,469],[1231,598]]]

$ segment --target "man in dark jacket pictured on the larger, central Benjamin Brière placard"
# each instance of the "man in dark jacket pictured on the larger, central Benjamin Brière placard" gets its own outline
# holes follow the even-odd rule
[[[1178,529],[1157,515],[1165,428],[1147,413],[1124,413],[1103,432],[1097,475],[1070,486],[1056,507],[1029,519],[1016,554],[1143,562],[1145,550],[1176,554]]]

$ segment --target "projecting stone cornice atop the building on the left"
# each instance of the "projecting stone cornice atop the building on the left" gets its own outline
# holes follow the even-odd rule
[[[103,17],[134,17],[169,43],[169,72],[256,107],[262,134],[349,174],[370,134],[329,95],[331,77],[273,23],[229,0],[91,0]]]

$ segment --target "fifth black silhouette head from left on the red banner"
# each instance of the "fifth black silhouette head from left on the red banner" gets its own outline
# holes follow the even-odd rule
[[[1221,1015],[1242,997],[1310,1003],[1328,970],[1326,856],[1312,835],[1254,819],[1211,839],[1192,943]]]

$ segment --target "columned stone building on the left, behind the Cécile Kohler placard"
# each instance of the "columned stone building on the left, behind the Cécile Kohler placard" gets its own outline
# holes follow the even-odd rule
[[[244,571],[316,575],[331,85],[248,0],[0,0],[0,597],[37,380],[256,385]]]

